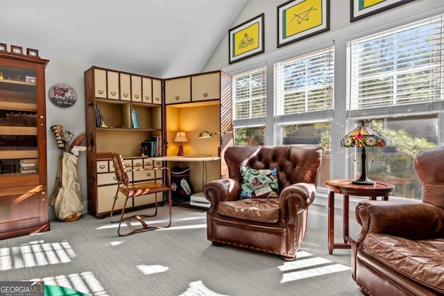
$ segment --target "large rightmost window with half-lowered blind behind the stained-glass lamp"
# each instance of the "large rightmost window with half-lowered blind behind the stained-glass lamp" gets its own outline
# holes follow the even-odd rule
[[[388,139],[388,147],[370,150],[366,165],[370,178],[395,185],[398,197],[421,198],[413,159],[439,143],[442,31],[438,16],[348,43],[348,116],[373,119],[370,127]],[[359,177],[360,149],[350,152],[357,160],[350,171]]]

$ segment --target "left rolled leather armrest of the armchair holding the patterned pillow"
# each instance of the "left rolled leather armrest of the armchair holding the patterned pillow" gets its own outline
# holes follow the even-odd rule
[[[212,213],[217,209],[219,202],[238,200],[241,194],[241,184],[234,179],[214,180],[205,184],[203,193],[205,198],[211,202],[208,211]]]

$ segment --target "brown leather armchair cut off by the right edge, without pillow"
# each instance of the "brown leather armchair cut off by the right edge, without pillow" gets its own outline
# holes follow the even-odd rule
[[[444,146],[414,160],[422,202],[361,201],[352,278],[366,295],[444,295]]]

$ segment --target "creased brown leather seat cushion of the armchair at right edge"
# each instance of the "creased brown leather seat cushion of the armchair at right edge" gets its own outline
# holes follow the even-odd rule
[[[403,275],[444,293],[444,238],[412,241],[367,234],[364,249]]]

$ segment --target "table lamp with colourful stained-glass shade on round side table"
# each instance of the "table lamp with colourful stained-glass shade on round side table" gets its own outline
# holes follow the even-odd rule
[[[366,147],[385,147],[387,146],[387,140],[378,134],[370,127],[362,125],[352,130],[341,140],[341,147],[347,148],[362,148],[361,152],[361,177],[357,180],[353,180],[352,184],[357,185],[373,185],[374,181],[368,179],[366,175]]]

